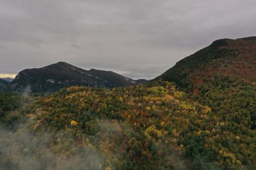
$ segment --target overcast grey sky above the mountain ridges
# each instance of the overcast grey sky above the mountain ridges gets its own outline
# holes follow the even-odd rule
[[[65,61],[151,79],[216,39],[256,36],[255,0],[0,4],[0,77]]]

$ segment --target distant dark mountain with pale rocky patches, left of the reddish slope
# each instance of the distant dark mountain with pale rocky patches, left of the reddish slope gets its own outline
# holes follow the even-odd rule
[[[10,83],[7,90],[22,92],[54,92],[64,87],[125,87],[136,85],[141,80],[132,80],[112,71],[90,69],[89,71],[58,62],[42,68],[24,69]]]

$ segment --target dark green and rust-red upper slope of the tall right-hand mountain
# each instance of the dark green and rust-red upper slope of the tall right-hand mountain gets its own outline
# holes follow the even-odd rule
[[[195,90],[221,77],[256,81],[256,37],[214,41],[155,80],[173,81],[182,89]]]

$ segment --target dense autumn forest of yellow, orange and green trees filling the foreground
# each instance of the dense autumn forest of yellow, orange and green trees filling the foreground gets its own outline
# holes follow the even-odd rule
[[[1,104],[6,107],[1,116],[5,131],[0,139],[1,167],[256,167],[255,121],[251,121],[255,85],[216,83],[216,90],[205,87],[204,96],[192,99],[172,83],[157,84],[112,90],[69,87],[49,97],[2,93]],[[22,100],[31,104],[20,106]],[[10,110],[15,111],[6,113]]]

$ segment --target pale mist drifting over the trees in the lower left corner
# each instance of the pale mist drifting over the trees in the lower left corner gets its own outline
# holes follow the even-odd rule
[[[65,146],[67,138],[58,143],[58,134],[35,133],[31,131],[31,124],[22,124],[17,131],[10,131],[0,127],[0,169],[102,169],[104,159],[91,146],[71,148],[67,153]],[[71,141],[74,147],[74,141]],[[61,153],[63,147],[63,152]],[[55,149],[55,150],[54,150]],[[69,149],[69,148],[68,148]],[[60,153],[54,153],[56,150]]]

